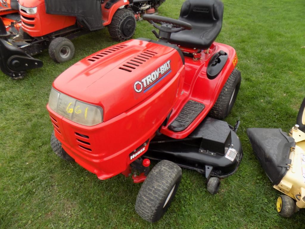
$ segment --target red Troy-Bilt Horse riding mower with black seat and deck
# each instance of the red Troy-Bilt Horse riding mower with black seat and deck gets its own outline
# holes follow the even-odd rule
[[[145,220],[161,218],[178,190],[180,167],[202,173],[216,194],[219,178],[242,159],[225,118],[241,74],[235,50],[214,42],[223,3],[187,0],[179,20],[143,15],[158,41],[133,39],[94,53],[53,83],[47,109],[53,151],[105,180],[119,173],[143,182],[135,204]],[[207,117],[210,116],[210,117]],[[159,160],[150,171],[150,160]]]

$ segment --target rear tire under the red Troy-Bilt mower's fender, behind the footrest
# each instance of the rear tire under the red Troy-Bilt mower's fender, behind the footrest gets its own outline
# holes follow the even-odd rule
[[[224,84],[216,103],[210,110],[210,117],[224,119],[229,115],[235,103],[241,82],[242,77],[240,71],[234,68],[227,82]]]

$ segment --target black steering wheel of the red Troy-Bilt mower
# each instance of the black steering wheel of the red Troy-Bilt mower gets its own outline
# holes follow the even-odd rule
[[[143,18],[143,20],[148,21],[150,24],[152,24],[154,27],[156,27],[160,31],[163,31],[166,33],[175,33],[175,32],[181,31],[181,30],[185,30],[185,29],[187,29],[187,30],[192,29],[191,24],[184,22],[184,21],[172,19],[169,17],[144,14],[142,16],[142,18]],[[159,26],[157,24],[160,24],[161,26]]]

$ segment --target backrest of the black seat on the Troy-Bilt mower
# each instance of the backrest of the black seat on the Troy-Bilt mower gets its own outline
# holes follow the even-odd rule
[[[179,20],[194,27],[213,25],[220,22],[224,14],[224,4],[220,0],[186,0],[180,11]]]

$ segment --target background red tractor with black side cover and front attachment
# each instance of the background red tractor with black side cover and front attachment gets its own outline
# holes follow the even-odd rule
[[[0,68],[13,79],[26,70],[42,67],[34,59],[43,49],[57,63],[71,60],[75,37],[108,27],[116,41],[125,41],[135,33],[136,19],[142,13],[155,13],[165,0],[19,0],[22,27],[13,36],[0,22]]]

